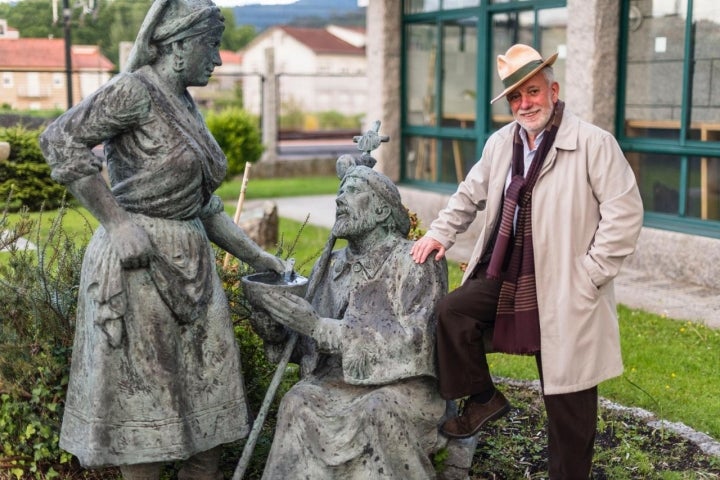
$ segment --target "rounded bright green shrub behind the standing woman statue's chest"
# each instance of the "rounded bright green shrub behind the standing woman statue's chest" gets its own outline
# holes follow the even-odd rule
[[[245,170],[246,162],[256,162],[263,152],[257,119],[240,108],[210,112],[206,118],[210,132],[228,159],[226,178]]]

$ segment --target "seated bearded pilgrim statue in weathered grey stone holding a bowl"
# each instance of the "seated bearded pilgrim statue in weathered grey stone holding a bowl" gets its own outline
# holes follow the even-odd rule
[[[309,301],[264,294],[271,318],[301,335],[294,360],[303,377],[280,404],[263,478],[435,478],[446,402],[435,379],[434,309],[447,266],[412,260],[397,187],[347,157],[338,161],[332,229],[347,246],[315,265]]]

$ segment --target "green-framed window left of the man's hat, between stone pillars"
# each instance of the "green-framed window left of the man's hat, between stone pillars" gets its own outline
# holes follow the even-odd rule
[[[552,45],[547,46],[547,52],[543,50],[543,42],[550,42],[544,35],[541,19],[553,9],[566,10],[566,3],[403,1],[400,170],[403,184],[443,193],[456,189],[480,158],[487,138],[511,119],[507,106],[500,105],[503,102],[497,102],[494,108],[489,104],[498,82],[497,54],[520,41],[533,45],[544,55],[554,53]],[[493,38],[503,22],[507,24],[506,31]],[[563,26],[563,39],[564,29]]]

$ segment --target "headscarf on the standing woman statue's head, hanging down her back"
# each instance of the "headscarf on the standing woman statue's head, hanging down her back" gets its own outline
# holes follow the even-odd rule
[[[211,0],[155,0],[143,20],[125,70],[153,63],[158,46],[224,27],[220,9]]]

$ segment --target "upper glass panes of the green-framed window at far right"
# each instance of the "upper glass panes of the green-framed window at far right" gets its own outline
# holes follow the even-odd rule
[[[720,4],[693,2],[692,102],[687,138],[720,140]],[[680,140],[688,2],[654,0],[630,7],[625,102],[629,137]]]

